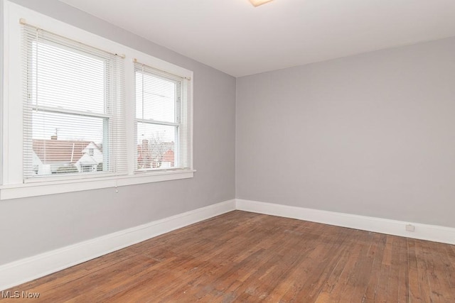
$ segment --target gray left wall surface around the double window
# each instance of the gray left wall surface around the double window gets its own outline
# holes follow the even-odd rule
[[[14,2],[193,70],[198,171],[193,179],[121,187],[118,194],[100,189],[0,201],[0,265],[235,197],[234,77],[59,1]]]

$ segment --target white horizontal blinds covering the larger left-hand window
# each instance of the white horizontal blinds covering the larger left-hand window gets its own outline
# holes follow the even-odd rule
[[[127,172],[124,62],[23,25],[23,176]]]

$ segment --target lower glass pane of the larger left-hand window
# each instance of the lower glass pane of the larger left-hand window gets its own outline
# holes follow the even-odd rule
[[[33,175],[107,170],[108,119],[46,112],[32,119]]]

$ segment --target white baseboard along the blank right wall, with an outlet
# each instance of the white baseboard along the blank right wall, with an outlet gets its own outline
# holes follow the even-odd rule
[[[374,231],[395,236],[455,244],[455,228],[445,226],[381,219],[371,216],[358,216],[355,214],[343,214],[333,211],[321,211],[317,209],[306,209],[303,207],[243,199],[235,200],[235,208],[259,214],[283,216],[286,218],[361,229],[363,231]],[[415,227],[415,230],[406,231],[405,226],[407,224],[412,224]]]

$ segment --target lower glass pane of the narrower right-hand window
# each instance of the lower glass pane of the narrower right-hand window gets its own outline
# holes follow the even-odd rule
[[[175,162],[176,126],[137,123],[137,169],[166,169]]]

